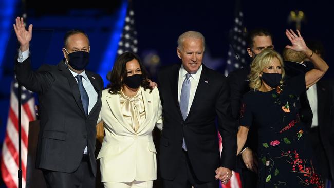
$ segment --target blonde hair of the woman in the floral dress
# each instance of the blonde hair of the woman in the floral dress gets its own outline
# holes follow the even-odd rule
[[[248,75],[249,78],[249,87],[253,90],[258,90],[261,85],[261,77],[260,73],[265,69],[267,66],[270,66],[273,62],[273,60],[277,58],[281,64],[282,67],[282,79],[280,81],[280,85],[283,84],[283,79],[285,77],[285,71],[284,71],[284,64],[283,59],[279,53],[277,53],[275,50],[266,48],[261,53],[256,55],[255,59],[251,63],[251,71]]]

